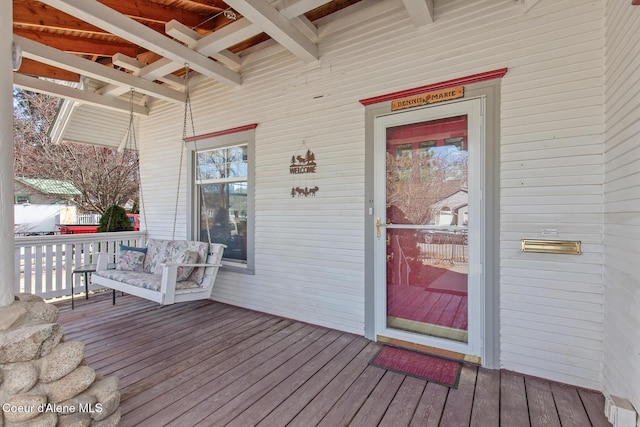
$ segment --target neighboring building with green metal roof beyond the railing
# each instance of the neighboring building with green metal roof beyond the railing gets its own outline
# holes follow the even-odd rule
[[[68,181],[44,178],[15,178],[15,204],[72,204],[82,193]]]

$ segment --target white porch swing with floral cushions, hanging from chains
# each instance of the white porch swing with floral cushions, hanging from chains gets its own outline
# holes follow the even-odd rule
[[[172,239],[148,239],[145,248],[121,246],[119,253],[115,256],[115,258],[117,258],[115,259],[115,269],[108,268],[110,263],[114,261],[114,254],[98,254],[96,272],[91,275],[91,283],[113,289],[113,304],[115,304],[116,301],[115,291],[121,291],[150,301],[155,301],[161,305],[210,299],[218,269],[221,267],[222,254],[226,245],[211,242],[208,220],[206,224],[207,242],[176,240],[176,224],[181,184],[180,176],[182,174],[182,164],[187,140],[188,121],[191,123],[191,131],[193,136],[195,136],[193,115],[191,112],[191,97],[189,95],[188,65],[185,65],[185,70],[184,126],[178,169]],[[126,145],[130,142],[133,147],[135,144],[133,90],[131,93],[129,130]],[[197,146],[195,149],[197,151]],[[202,188],[202,186],[200,187]],[[202,202],[204,205],[204,195],[202,195]],[[144,214],[145,209],[142,190],[140,190],[140,204]],[[145,225],[147,223],[146,215],[144,217],[144,223]]]

